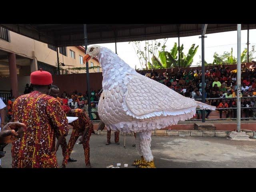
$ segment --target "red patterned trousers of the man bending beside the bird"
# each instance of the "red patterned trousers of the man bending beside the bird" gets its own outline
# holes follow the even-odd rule
[[[83,143],[84,147],[84,157],[85,157],[85,164],[88,165],[90,163],[90,136],[92,135],[92,128],[88,128],[88,132],[85,135],[85,142]],[[78,137],[81,136],[81,132],[74,129],[72,130],[70,140],[68,141],[68,148],[65,158],[63,159],[62,165],[66,165],[68,162],[68,158],[70,157],[70,154],[74,148],[74,145],[76,144],[76,140]]]

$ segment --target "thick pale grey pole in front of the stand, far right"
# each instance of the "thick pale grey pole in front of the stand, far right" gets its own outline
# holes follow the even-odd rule
[[[237,132],[241,130],[241,24],[237,24]]]

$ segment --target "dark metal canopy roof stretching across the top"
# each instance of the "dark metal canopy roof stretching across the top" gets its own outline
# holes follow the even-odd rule
[[[83,24],[0,24],[29,38],[61,46],[84,45]],[[242,30],[256,24],[242,24]],[[206,34],[237,30],[237,24],[208,24]],[[201,34],[201,24],[87,24],[88,44],[129,42]]]

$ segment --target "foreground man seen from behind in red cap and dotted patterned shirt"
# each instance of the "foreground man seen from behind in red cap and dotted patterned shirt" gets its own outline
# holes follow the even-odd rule
[[[58,168],[56,151],[68,134],[68,120],[60,102],[49,96],[52,75],[35,71],[30,75],[34,91],[18,97],[13,120],[26,125],[24,136],[12,144],[13,168]],[[59,135],[55,146],[55,135]]]

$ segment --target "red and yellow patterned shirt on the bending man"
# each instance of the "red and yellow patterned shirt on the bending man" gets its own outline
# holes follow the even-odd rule
[[[73,129],[76,129],[80,132],[80,135],[83,134],[84,129],[89,128],[88,131],[93,130],[93,124],[89,116],[82,109],[74,110],[75,116],[78,117],[78,120],[72,122]]]

